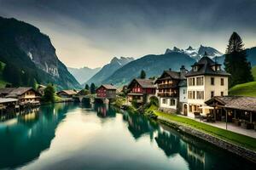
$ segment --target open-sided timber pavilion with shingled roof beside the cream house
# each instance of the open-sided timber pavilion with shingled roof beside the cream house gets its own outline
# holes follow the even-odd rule
[[[233,122],[256,130],[256,98],[245,96],[215,96],[205,102],[212,106],[214,121]]]

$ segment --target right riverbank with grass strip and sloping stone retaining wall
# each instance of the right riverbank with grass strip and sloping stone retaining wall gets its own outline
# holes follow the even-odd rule
[[[218,127],[212,127],[176,114],[164,113],[158,111],[155,106],[150,106],[146,113],[153,113],[158,122],[175,128],[181,133],[207,141],[256,163],[256,139]]]

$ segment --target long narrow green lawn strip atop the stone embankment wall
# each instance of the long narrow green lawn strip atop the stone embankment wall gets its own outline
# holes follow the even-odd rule
[[[239,133],[233,133],[222,128],[212,127],[211,125],[207,125],[206,123],[197,122],[183,116],[177,116],[176,114],[168,114],[161,111],[156,111],[155,106],[151,106],[148,111],[154,111],[155,115],[164,117],[167,120],[182,123],[185,126],[193,127],[204,133],[208,133],[212,136],[218,137],[219,139],[224,139],[232,144],[238,144],[249,150],[256,151],[256,139],[253,139],[251,137]]]

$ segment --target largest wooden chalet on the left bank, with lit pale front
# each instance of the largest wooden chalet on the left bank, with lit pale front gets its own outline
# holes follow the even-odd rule
[[[39,104],[41,95],[38,94],[33,88],[15,88],[12,90],[6,98],[18,99],[20,105],[26,104]]]

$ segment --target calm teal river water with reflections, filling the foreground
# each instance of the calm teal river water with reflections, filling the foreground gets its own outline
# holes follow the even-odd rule
[[[212,144],[104,105],[43,105],[0,122],[0,169],[253,169]]]

